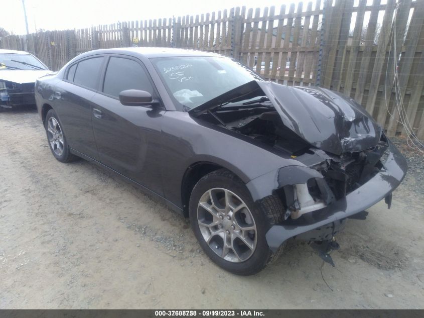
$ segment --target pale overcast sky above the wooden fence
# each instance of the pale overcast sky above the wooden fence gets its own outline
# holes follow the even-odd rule
[[[25,34],[22,0],[3,0],[0,27],[15,34]],[[2,2],[3,2],[2,1]],[[171,18],[173,15],[196,15],[246,6],[256,8],[299,3],[299,0],[25,0],[30,33],[35,29],[64,30],[87,28],[91,25],[111,24],[118,21]],[[308,1],[305,1],[308,3]],[[315,5],[315,0],[313,0]],[[306,7],[306,5],[304,5]],[[304,9],[305,10],[305,9]]]

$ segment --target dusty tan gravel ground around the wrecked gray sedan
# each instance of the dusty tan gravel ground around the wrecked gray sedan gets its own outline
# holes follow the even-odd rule
[[[290,241],[239,277],[161,202],[84,160],[56,161],[33,109],[0,113],[0,135],[1,308],[424,308],[424,161],[403,139],[409,171],[391,209],[348,221],[335,268]]]

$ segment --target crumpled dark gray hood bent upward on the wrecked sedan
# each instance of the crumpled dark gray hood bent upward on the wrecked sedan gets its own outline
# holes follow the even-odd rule
[[[340,155],[375,146],[380,126],[352,98],[320,87],[257,81],[283,124],[311,145]]]

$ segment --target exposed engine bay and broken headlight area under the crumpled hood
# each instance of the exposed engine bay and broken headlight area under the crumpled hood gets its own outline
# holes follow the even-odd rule
[[[288,129],[272,108],[257,106],[240,110],[224,108],[199,118],[272,147],[322,174],[323,178],[310,178],[306,183],[287,184],[276,190],[286,207],[285,220],[307,217],[345,197],[383,167],[380,159],[388,147],[384,135],[374,147],[335,155],[312,146]]]

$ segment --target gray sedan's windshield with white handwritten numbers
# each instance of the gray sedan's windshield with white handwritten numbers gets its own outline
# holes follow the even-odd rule
[[[165,57],[151,61],[174,101],[185,111],[252,80],[263,80],[225,57]]]

